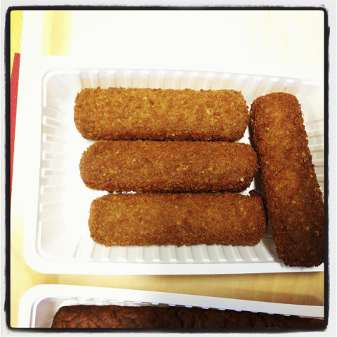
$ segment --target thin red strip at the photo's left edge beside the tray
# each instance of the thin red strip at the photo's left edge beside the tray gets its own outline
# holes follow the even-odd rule
[[[11,76],[11,194],[12,194],[16,107],[18,103],[19,68],[20,68],[20,53],[15,53]]]

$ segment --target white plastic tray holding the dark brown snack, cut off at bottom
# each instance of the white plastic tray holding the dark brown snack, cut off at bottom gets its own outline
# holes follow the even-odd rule
[[[65,305],[184,305],[185,307],[215,308],[266,312],[268,314],[324,317],[324,306],[237,300],[211,296],[196,296],[159,291],[140,291],[93,286],[40,284],[22,296],[18,312],[18,328],[48,328],[58,309]]]

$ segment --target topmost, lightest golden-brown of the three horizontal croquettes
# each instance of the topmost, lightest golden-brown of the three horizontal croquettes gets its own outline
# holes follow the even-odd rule
[[[84,88],[74,122],[91,140],[239,140],[249,122],[234,90]]]

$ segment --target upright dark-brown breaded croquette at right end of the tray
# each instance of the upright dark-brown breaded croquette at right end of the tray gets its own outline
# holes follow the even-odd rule
[[[277,254],[285,265],[320,265],[324,203],[297,98],[260,96],[251,105],[251,127]]]

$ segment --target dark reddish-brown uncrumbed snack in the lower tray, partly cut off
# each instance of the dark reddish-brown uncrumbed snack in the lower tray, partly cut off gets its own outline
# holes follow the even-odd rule
[[[70,305],[61,307],[51,328],[323,328],[324,320],[264,312],[183,306]]]

